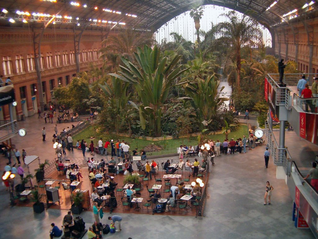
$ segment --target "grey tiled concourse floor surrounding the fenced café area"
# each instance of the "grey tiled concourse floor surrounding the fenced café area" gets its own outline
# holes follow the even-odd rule
[[[14,139],[19,149],[25,148],[29,155],[37,154],[44,161],[54,157],[51,141],[41,140],[43,122],[36,117],[23,122],[27,128],[26,138]],[[48,125],[48,124],[47,124]],[[67,124],[66,124],[67,125]],[[53,127],[48,131],[53,133]],[[62,127],[59,126],[59,128]],[[63,125],[64,127],[64,125]],[[121,232],[108,238],[314,238],[309,229],[296,229],[292,221],[292,200],[284,180],[276,179],[276,169],[270,160],[264,166],[265,145],[246,154],[222,155],[215,158],[208,187],[204,217],[174,215],[120,214],[123,216]],[[69,153],[72,154],[72,153]],[[80,156],[79,152],[74,155]],[[0,167],[6,162],[2,157]],[[272,205],[263,206],[266,181],[275,188]],[[30,207],[10,207],[9,194],[0,186],[0,238],[48,238],[50,224],[61,225],[67,210],[48,209],[33,214]],[[101,220],[108,223],[109,214]],[[93,223],[92,212],[81,214],[86,226]],[[87,238],[87,236],[84,236]]]

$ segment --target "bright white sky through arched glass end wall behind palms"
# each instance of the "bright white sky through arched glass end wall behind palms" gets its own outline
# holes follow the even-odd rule
[[[212,23],[215,25],[219,22],[226,20],[224,16],[220,16],[222,13],[232,11],[228,8],[223,8],[214,5],[206,5],[204,9],[203,16],[200,20],[200,30],[205,32],[211,29]],[[239,13],[240,16],[243,16],[242,13]],[[259,24],[259,28],[263,32],[263,41],[265,46],[272,46],[272,37],[268,29]],[[264,29],[265,28],[265,29]],[[195,42],[196,40],[196,29],[194,28],[193,18],[190,17],[190,11],[180,14],[176,18],[172,18],[169,22],[162,25],[156,34],[156,40],[161,43],[163,39],[166,39],[168,42],[173,41],[173,37],[169,34],[176,32],[181,34],[186,40]],[[201,37],[202,39],[202,37]]]

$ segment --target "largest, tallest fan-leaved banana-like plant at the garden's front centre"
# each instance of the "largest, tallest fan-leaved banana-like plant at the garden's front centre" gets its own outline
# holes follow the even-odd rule
[[[181,55],[175,54],[169,63],[167,57],[161,58],[157,45],[153,49],[145,45],[143,51],[137,47],[134,56],[139,67],[122,57],[124,66],[119,66],[118,74],[110,73],[109,75],[134,85],[141,99],[138,109],[142,129],[148,126],[149,134],[160,136],[165,123],[162,119],[163,114],[173,110],[169,108],[165,111],[162,106],[171,87],[187,83],[175,84],[175,79],[188,68],[182,70],[182,65],[177,66]]]

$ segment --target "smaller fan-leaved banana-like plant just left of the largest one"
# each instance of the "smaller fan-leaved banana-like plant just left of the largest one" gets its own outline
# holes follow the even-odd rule
[[[128,103],[130,93],[128,93],[128,82],[122,82],[120,79],[111,76],[112,87],[106,82],[104,85],[98,84],[100,89],[105,94],[105,97],[110,102],[110,105],[114,107],[114,123],[115,129],[118,132],[121,123],[127,116],[125,106]]]

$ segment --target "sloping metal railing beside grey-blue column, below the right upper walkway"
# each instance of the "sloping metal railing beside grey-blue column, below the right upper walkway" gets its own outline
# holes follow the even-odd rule
[[[268,121],[265,121],[265,133],[268,141],[268,148],[273,157],[274,164],[277,166],[283,166],[285,173],[288,172],[288,161],[291,158],[287,148],[279,148],[275,136]]]

